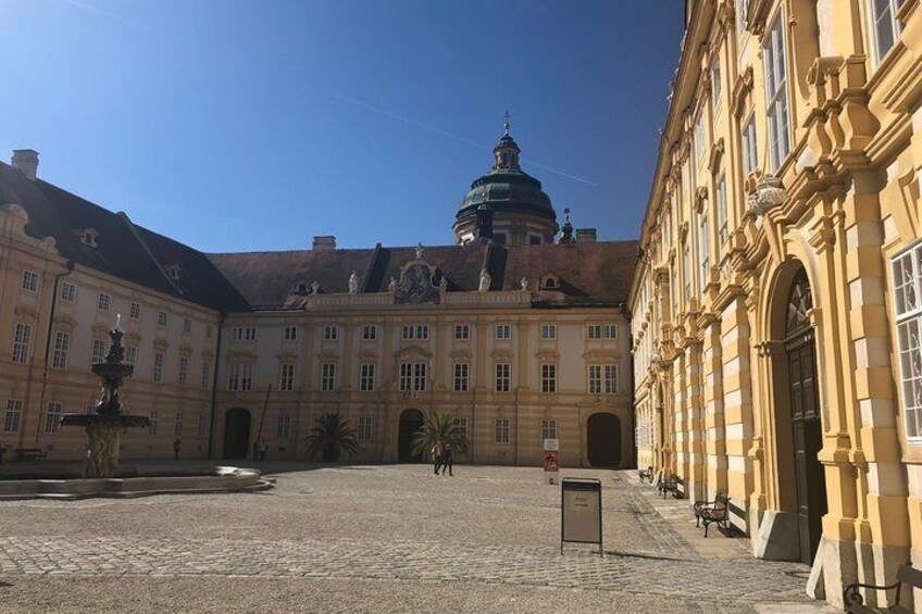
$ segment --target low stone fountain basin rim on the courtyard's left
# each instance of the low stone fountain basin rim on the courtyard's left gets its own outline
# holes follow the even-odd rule
[[[0,501],[256,492],[272,488],[274,483],[257,469],[228,466],[122,467],[113,477],[99,478],[80,477],[82,468],[72,464],[24,463],[22,468],[11,468],[4,465],[0,474]]]

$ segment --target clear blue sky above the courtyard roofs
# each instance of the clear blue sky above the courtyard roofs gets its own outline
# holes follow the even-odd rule
[[[0,155],[202,251],[450,245],[511,114],[559,217],[634,238],[683,0],[0,0]]]

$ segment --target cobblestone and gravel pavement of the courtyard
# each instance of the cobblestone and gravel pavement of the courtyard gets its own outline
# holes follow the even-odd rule
[[[16,603],[25,589],[27,599],[68,587],[76,601],[38,610],[79,611],[79,599],[99,605],[92,587],[107,592],[145,580],[154,592],[161,587],[167,602],[171,582],[189,587],[188,611],[213,605],[195,586],[224,587],[220,601],[240,586],[257,594],[271,586],[278,611],[286,610],[279,594],[321,586],[340,601],[314,601],[316,611],[340,603],[351,605],[344,611],[420,611],[411,607],[414,596],[427,611],[429,592],[485,611],[529,611],[556,601],[574,612],[823,611],[803,593],[808,567],[757,561],[744,538],[706,540],[687,519],[687,502],[657,499],[632,474],[563,472],[603,481],[600,557],[582,544],[560,554],[559,490],[540,485],[539,469],[457,473],[314,468],[279,473],[277,487],[261,494],[0,503],[0,579],[9,585],[0,585],[0,599],[7,593],[7,602]],[[74,592],[77,580],[84,584]],[[491,593],[493,600],[477,602]],[[221,611],[259,609],[247,603],[238,597]],[[297,604],[311,609],[302,598]],[[184,611],[171,607],[177,605]]]

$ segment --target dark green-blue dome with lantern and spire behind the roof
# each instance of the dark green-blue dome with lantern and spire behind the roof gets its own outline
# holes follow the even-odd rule
[[[552,243],[559,230],[557,213],[541,183],[519,166],[521,150],[509,134],[493,150],[493,170],[471,184],[454,216],[459,245],[494,241],[523,246]]]

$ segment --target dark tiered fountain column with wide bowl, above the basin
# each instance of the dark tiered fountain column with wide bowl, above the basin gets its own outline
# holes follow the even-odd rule
[[[128,428],[144,428],[150,425],[147,416],[132,416],[122,413],[119,401],[119,388],[122,380],[135,371],[134,365],[124,363],[125,348],[122,347],[124,334],[119,328],[109,331],[112,347],[101,363],[92,365],[92,372],[102,378],[102,398],[90,414],[65,414],[61,426],[82,426],[86,429],[89,444],[89,466],[86,477],[112,477],[119,469],[119,449],[122,434]]]

